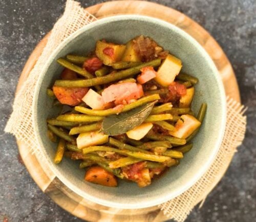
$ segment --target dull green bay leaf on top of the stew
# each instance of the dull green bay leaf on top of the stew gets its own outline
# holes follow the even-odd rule
[[[154,104],[148,103],[119,115],[106,116],[101,131],[106,135],[115,136],[138,127],[150,115]]]

